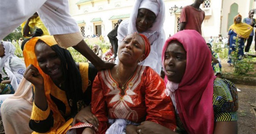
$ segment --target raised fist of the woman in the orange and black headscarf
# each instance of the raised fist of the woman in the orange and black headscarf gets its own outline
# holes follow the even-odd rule
[[[36,88],[44,87],[44,78],[39,73],[38,69],[32,64],[28,66],[23,77],[32,83]]]

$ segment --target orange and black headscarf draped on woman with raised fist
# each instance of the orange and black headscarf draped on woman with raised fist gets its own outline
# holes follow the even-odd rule
[[[44,35],[41,37],[33,37],[32,39],[30,39],[25,44],[24,50],[23,50],[23,55],[24,55],[24,60],[25,60],[26,66],[29,66],[30,64],[34,65],[36,68],[38,68],[38,71],[44,77],[44,90],[45,90],[45,95],[47,97],[47,102],[49,105],[48,109],[49,108],[51,109],[51,111],[53,113],[53,117],[54,117],[54,126],[52,127],[52,129],[54,129],[54,130],[52,130],[52,131],[55,131],[55,129],[59,128],[61,125],[63,125],[66,122],[63,116],[70,115],[72,117],[81,108],[83,108],[84,103],[81,100],[83,99],[82,94],[88,86],[88,66],[89,66],[89,64],[87,63],[84,65],[83,68],[85,71],[83,71],[83,73],[81,74],[81,72],[78,68],[77,68],[78,69],[77,71],[76,71],[76,69],[74,69],[74,68],[76,68],[76,63],[75,63],[75,61],[70,61],[72,58],[71,55],[69,55],[70,53],[65,52],[65,51],[67,51],[66,49],[58,48],[61,50],[63,49],[63,51],[64,51],[64,52],[62,52],[62,51],[59,51],[59,52],[66,54],[66,55],[62,55],[62,56],[66,58],[65,59],[66,63],[63,63],[63,64],[67,66],[65,72],[67,72],[68,77],[66,77],[66,78],[67,78],[67,81],[69,81],[69,83],[68,84],[66,83],[66,85],[65,85],[65,87],[67,87],[67,88],[65,90],[61,90],[58,86],[56,86],[53,83],[53,81],[49,77],[49,75],[44,74],[44,72],[41,70],[40,66],[38,65],[37,57],[35,55],[35,45],[38,42],[38,40],[42,40],[44,43],[46,43],[52,49],[58,45],[53,36]],[[58,54],[57,50],[54,50],[54,51]],[[62,59],[61,57],[59,57],[59,58]],[[72,60],[73,60],[73,58],[72,58]],[[61,62],[64,62],[64,60],[61,60]],[[80,64],[79,64],[79,68],[81,70],[83,69],[83,68],[81,68]],[[67,71],[67,70],[69,70],[69,71]],[[73,74],[73,75],[70,75],[70,74]],[[72,79],[73,81],[70,79]],[[83,80],[83,82],[81,82],[82,80]],[[35,90],[35,87],[34,87],[34,90]],[[70,93],[70,92],[76,93],[78,91],[79,91],[79,93],[80,92],[81,93],[80,94],[71,94]],[[62,116],[63,113],[61,113],[58,110],[57,105],[51,99],[51,95],[53,95],[54,97],[56,97],[58,100],[60,100],[61,102],[63,102],[66,105],[66,111],[63,111],[63,113],[65,113],[66,115]],[[34,108],[34,106],[33,106],[33,108]],[[35,115],[37,115],[37,114],[33,114],[33,111],[32,111],[32,114],[31,114],[32,120],[38,120],[38,117],[36,117]],[[40,119],[40,120],[43,120],[43,119]]]

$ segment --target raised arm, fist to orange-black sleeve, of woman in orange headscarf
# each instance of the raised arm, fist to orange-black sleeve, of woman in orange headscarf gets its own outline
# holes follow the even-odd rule
[[[35,86],[35,97],[29,127],[33,131],[46,133],[53,126],[54,119],[44,92],[44,78],[32,64],[26,69],[24,78]]]

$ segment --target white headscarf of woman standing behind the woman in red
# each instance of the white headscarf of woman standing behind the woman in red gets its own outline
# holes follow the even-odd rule
[[[142,3],[142,1],[143,0],[136,0],[134,3],[133,11],[131,12],[130,18],[128,20],[123,20],[122,23],[120,23],[117,30],[118,44],[120,44],[127,35],[133,34],[135,32],[140,33],[137,31],[137,28],[136,28],[136,19],[137,19],[138,10],[140,8],[140,4]],[[163,23],[165,20],[165,6],[163,3],[163,0],[149,0],[149,1],[157,2],[160,7],[159,7],[159,13],[157,14],[157,18],[153,23],[153,26],[149,28],[147,31],[140,33],[148,37],[148,40],[151,43],[151,51],[148,57],[142,62],[142,65],[149,66],[158,74],[160,74],[161,66],[162,66],[161,64],[162,48],[165,42],[165,33],[163,30]],[[148,7],[149,8],[146,8],[143,6],[143,8],[150,10],[151,9],[150,5]]]

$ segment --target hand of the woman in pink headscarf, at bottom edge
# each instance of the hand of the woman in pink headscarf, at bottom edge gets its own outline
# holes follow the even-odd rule
[[[137,127],[138,134],[177,134],[174,131],[151,121],[142,122]]]

